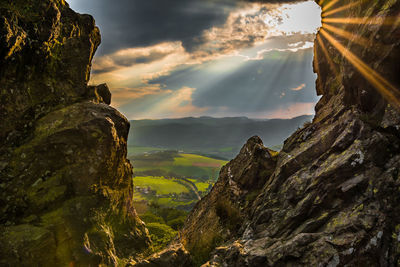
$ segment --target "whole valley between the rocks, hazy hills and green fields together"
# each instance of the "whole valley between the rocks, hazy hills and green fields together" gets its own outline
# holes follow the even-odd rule
[[[187,213],[210,192],[221,167],[250,136],[260,135],[279,151],[283,140],[310,118],[131,121],[128,158],[134,167],[135,208],[149,229],[154,250],[178,233]]]

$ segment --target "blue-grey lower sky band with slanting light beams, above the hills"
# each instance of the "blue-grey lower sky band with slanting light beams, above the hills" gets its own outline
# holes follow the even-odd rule
[[[288,103],[315,103],[318,98],[312,58],[312,49],[296,53],[272,51],[264,54],[262,60],[245,61],[238,56],[223,57],[202,65],[185,66],[148,80],[148,85],[159,86],[159,91],[152,91],[154,94],[151,96],[144,95],[127,101],[120,109],[125,114],[131,114],[130,118],[144,117],[143,110],[151,111],[146,112],[156,117],[172,114],[171,111],[165,111],[165,106],[180,111],[181,116],[201,115],[199,111],[203,111],[203,115],[211,116],[249,114],[254,117],[260,114],[266,116],[268,112],[287,106]],[[290,89],[301,84],[305,84],[302,90]],[[166,96],[171,98],[172,95],[180,95],[177,99],[187,96],[188,91],[184,91],[186,94],[182,94],[182,91],[176,93],[182,88],[196,90],[186,89],[190,91],[190,99],[186,98],[182,102],[167,101]],[[164,94],[164,90],[169,90],[169,93]],[[142,102],[146,105],[142,105]],[[160,106],[164,107],[163,111]]]

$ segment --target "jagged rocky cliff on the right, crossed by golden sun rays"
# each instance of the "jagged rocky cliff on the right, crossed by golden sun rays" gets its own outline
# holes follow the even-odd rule
[[[279,155],[250,139],[190,214],[169,265],[189,254],[204,266],[400,265],[400,2],[319,4],[313,122]],[[168,266],[163,255],[138,266]]]

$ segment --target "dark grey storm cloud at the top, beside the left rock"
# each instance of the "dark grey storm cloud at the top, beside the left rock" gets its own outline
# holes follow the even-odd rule
[[[164,41],[182,41],[189,51],[201,33],[225,22],[235,0],[71,0],[92,14],[102,32],[100,54]]]

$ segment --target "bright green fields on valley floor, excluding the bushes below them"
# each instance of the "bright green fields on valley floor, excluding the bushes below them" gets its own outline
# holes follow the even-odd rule
[[[227,163],[177,151],[146,152],[129,158],[134,167],[134,199],[142,211],[145,203],[189,211],[208,193]]]

